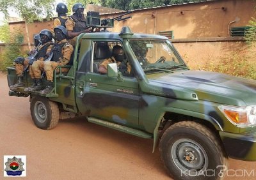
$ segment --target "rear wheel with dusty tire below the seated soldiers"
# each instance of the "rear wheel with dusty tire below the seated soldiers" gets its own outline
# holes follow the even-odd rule
[[[43,130],[51,130],[59,122],[59,107],[57,103],[41,96],[35,96],[30,102],[31,117],[35,125]]]

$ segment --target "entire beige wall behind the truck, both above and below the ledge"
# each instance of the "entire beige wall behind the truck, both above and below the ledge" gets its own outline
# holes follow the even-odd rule
[[[119,32],[123,26],[129,26],[134,33],[157,34],[159,31],[173,31],[173,44],[189,66],[195,68],[198,62],[204,64],[206,61],[220,61],[232,56],[234,52],[241,52],[239,56],[250,54],[243,40],[225,40],[225,37],[230,36],[228,24],[236,17],[240,20],[230,24],[230,27],[246,26],[251,17],[255,17],[255,6],[256,1],[253,0],[218,0],[134,10],[130,14],[132,19],[115,21],[115,27],[109,30]],[[222,7],[225,11],[221,10]],[[102,15],[102,18],[120,14],[122,13],[108,13]],[[24,22],[10,23],[10,28],[20,28],[25,34]],[[33,35],[42,29],[52,30],[52,21],[34,22],[29,24],[28,28],[29,38],[33,41]],[[188,38],[189,41],[186,41]],[[204,41],[198,41],[198,38]],[[212,41],[212,38],[220,40]],[[26,34],[24,40],[27,43]]]

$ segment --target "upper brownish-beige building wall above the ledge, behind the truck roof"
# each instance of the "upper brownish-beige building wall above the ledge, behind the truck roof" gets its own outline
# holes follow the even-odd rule
[[[129,26],[136,33],[173,31],[174,38],[227,37],[228,24],[239,17],[239,22],[234,22],[230,27],[246,26],[256,15],[255,6],[256,1],[253,0],[219,0],[136,10],[131,14],[132,19],[116,22],[111,31],[120,31],[122,26]],[[222,7],[226,10],[221,10]]]

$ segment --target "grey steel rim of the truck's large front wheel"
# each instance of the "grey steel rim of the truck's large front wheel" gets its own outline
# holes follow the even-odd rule
[[[184,174],[196,175],[208,167],[208,156],[202,146],[191,139],[177,140],[171,149],[175,165]]]

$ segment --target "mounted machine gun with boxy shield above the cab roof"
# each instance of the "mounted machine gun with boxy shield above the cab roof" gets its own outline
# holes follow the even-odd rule
[[[125,20],[125,19],[129,19],[131,18],[130,16],[127,17],[123,17],[124,15],[128,15],[132,13],[132,11],[126,11],[124,14],[122,15],[118,15],[117,17],[114,17],[113,19],[102,19],[100,20],[100,15],[99,12],[95,12],[95,11],[88,11],[87,13],[87,27],[92,27],[94,28],[103,28],[104,32],[106,32],[106,28],[109,27],[114,27],[114,22],[115,20],[117,21],[121,21],[121,20]]]

